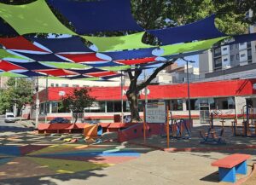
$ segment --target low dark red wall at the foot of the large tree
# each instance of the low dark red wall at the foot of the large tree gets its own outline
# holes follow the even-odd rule
[[[163,124],[147,124],[146,136],[160,135],[163,132]],[[134,124],[125,130],[118,132],[118,142],[126,142],[143,137],[143,124]]]

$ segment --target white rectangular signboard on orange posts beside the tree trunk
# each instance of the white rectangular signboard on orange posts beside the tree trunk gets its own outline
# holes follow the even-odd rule
[[[145,106],[146,123],[165,124],[166,123],[166,103],[165,101],[147,103]]]

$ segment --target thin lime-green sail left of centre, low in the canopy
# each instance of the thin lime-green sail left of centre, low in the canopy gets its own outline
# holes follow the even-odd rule
[[[86,66],[84,64],[73,63],[73,62],[52,62],[52,61],[41,61],[40,63],[53,66],[59,69],[84,69],[90,68],[90,66]]]

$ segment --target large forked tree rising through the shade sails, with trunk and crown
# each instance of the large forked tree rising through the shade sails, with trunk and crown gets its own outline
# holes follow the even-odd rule
[[[30,3],[35,0],[2,0],[4,3],[22,4]],[[79,0],[78,0],[79,1]],[[80,0],[84,1],[84,0]],[[181,26],[201,20],[210,14],[216,14],[216,26],[225,33],[243,33],[247,31],[247,26],[256,20],[256,14],[252,18],[246,18],[249,9],[256,12],[255,0],[131,0],[131,11],[138,24],[146,30],[159,29],[167,26]],[[51,8],[52,9],[52,8]],[[52,9],[57,18],[68,28],[73,30],[60,13]],[[99,36],[117,36],[119,32],[100,33]],[[97,34],[95,34],[97,36]],[[152,36],[145,34],[144,43],[158,44]],[[85,42],[86,43],[86,42]],[[156,77],[158,72],[166,66],[172,65],[177,59],[167,61],[148,77],[146,82],[137,84],[142,70],[128,72],[131,84],[126,96],[130,102],[131,117],[133,121],[140,120],[138,114],[138,92],[148,86]],[[137,65],[139,68],[140,65]]]

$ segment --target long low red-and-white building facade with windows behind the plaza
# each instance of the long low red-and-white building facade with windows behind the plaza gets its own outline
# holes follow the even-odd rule
[[[216,82],[201,82],[190,84],[190,104],[193,119],[201,117],[203,110],[218,110],[219,117],[239,118],[246,104],[256,107],[256,79],[239,79]],[[123,90],[124,113],[130,114],[129,102]],[[145,90],[139,95],[139,111],[143,116],[143,103],[146,101],[166,101],[170,107],[172,117],[188,118],[188,86],[187,84],[149,85],[148,95]],[[91,87],[90,95],[96,102],[90,108],[84,109],[85,119],[95,119],[101,122],[113,121],[114,114],[121,113],[121,88],[120,87]],[[70,119],[72,114],[67,110],[61,111],[60,101],[62,95],[69,94],[73,88],[49,87],[39,93],[40,117],[42,120],[55,117]],[[64,93],[63,93],[64,92]],[[46,105],[46,106],[45,106]],[[45,107],[47,110],[45,110]],[[47,111],[47,114],[46,114]],[[35,109],[32,108],[32,118]]]

